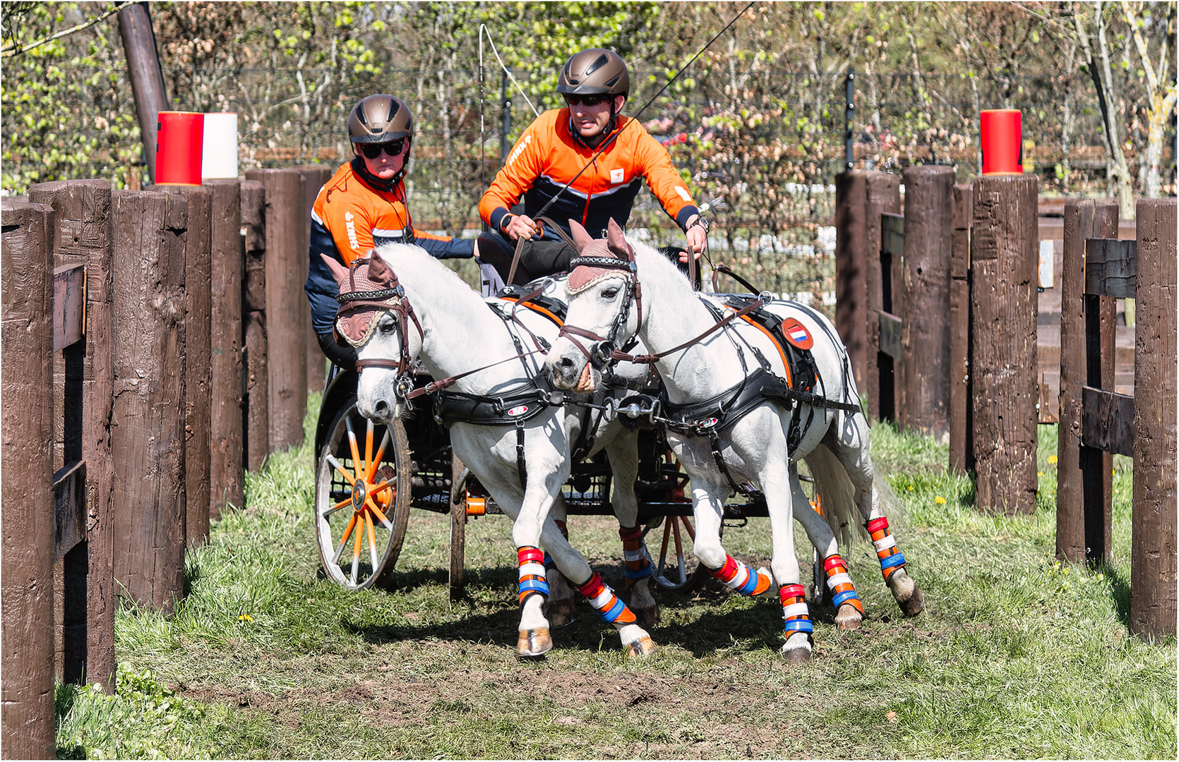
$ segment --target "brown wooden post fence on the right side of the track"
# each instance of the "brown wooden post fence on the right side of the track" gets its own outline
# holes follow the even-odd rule
[[[1062,225],[1039,218],[1033,177],[950,186],[936,167],[910,167],[902,214],[871,198],[868,188],[889,187],[878,173],[847,174],[861,177],[837,184],[837,204],[864,212],[837,211],[836,269],[842,293],[862,289],[867,310],[864,324],[838,327],[865,337],[870,416],[940,436],[946,411],[950,468],[973,472],[981,510],[1006,513],[1035,511],[1036,425],[1059,419],[1056,548],[1069,561],[1108,557],[1112,453],[1132,456],[1131,629],[1173,635],[1175,200],[1140,200],[1135,240],[1113,200],[1069,199],[1049,212]],[[940,224],[918,228],[924,218]],[[865,231],[854,237],[856,220]],[[861,240],[862,265],[851,251]],[[1118,325],[1120,299],[1133,299],[1137,326]],[[1045,304],[1059,305],[1059,329]],[[944,363],[931,347],[946,349]]]

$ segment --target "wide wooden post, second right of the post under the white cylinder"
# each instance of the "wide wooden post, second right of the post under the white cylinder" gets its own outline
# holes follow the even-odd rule
[[[294,168],[250,170],[245,177],[266,187],[266,339],[282,347],[266,358],[274,451],[303,442],[307,415],[307,184]]]

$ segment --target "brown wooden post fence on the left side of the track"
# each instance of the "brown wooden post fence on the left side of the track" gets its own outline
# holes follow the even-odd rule
[[[0,755],[54,756],[54,672],[110,690],[116,596],[173,610],[185,549],[243,504],[245,468],[302,442],[323,384],[308,217],[329,177],[4,199]]]

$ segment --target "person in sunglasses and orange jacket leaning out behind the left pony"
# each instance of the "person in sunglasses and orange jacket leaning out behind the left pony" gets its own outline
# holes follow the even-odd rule
[[[409,106],[395,95],[369,95],[348,115],[353,159],[320,188],[311,207],[311,247],[307,298],[320,347],[336,365],[353,369],[356,350],[336,343],[336,294],[340,287],[321,253],[349,265],[390,241],[417,244],[440,258],[470,257],[474,241],[414,230],[406,205],[406,163],[414,140]]]

